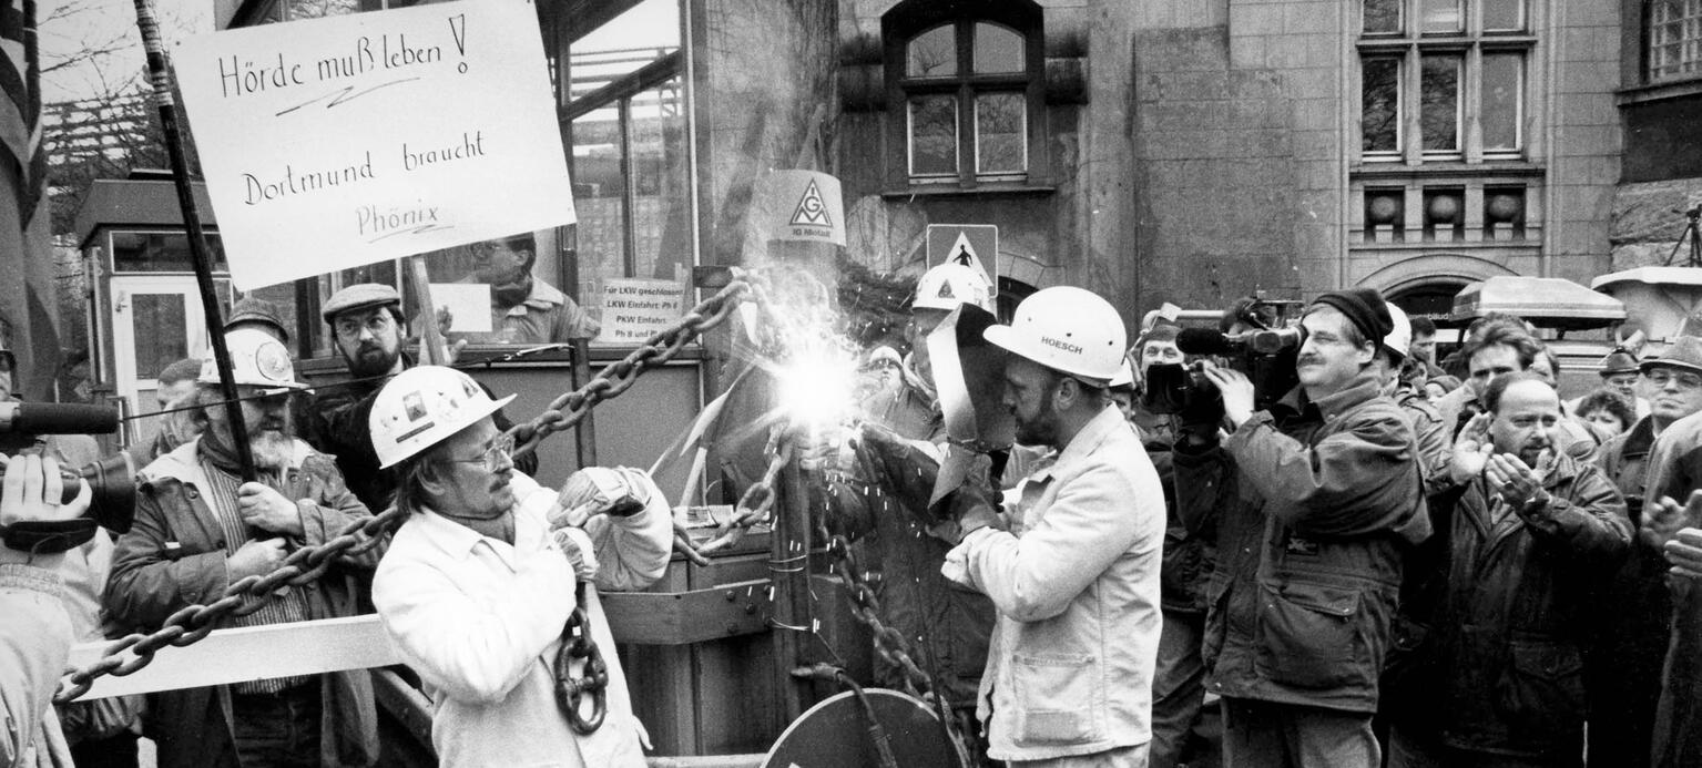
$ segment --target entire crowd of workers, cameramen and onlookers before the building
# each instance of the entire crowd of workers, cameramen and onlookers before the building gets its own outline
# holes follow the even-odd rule
[[[1522,318],[1482,317],[1436,359],[1436,329],[1367,288],[1287,324],[1259,301],[1208,329],[1154,312],[1134,342],[1074,286],[997,324],[984,274],[955,262],[909,307],[909,351],[863,352],[856,416],[800,438],[803,467],[832,490],[822,524],[882,564],[883,620],[928,640],[970,763],[1702,765],[1702,339],[1615,349],[1602,390],[1562,402]],[[940,327],[970,317],[1002,364],[997,402],[967,405],[1014,426],[985,456],[948,438],[965,404],[941,381],[967,366],[936,359]],[[352,387],[306,392],[276,313],[240,305],[247,433],[211,358],[170,366],[160,397],[184,410],[133,448],[133,524],[9,538],[0,765],[136,765],[138,737],[170,766],[376,765],[363,669],[48,695],[73,639],[157,628],[386,509],[405,523],[380,545],[221,627],[376,613],[443,765],[645,765],[621,659],[597,662],[591,727],[553,664],[575,637],[614,647],[599,593],[664,574],[662,490],[625,467],[534,482],[514,395],[415,364],[395,289],[344,288],[322,320]],[[1248,352],[1246,334],[1276,341]],[[95,458],[87,439],[12,456],[0,523],[82,516],[58,468]],[[946,472],[962,482],[931,494]]]

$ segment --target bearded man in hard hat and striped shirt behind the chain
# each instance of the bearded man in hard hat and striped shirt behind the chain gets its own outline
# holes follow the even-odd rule
[[[136,521],[117,540],[104,594],[119,625],[157,628],[189,605],[221,598],[235,581],[271,574],[289,550],[322,545],[371,516],[330,456],[291,436],[289,393],[301,385],[284,346],[254,329],[225,339],[247,434],[231,429],[209,356],[194,393],[201,434],[138,475]],[[238,439],[248,443],[257,482],[240,477]],[[230,625],[354,615],[354,577],[371,572],[378,557],[378,548],[342,557],[320,579]],[[158,693],[145,722],[160,766],[366,766],[378,758],[371,698],[364,669],[257,679]]]

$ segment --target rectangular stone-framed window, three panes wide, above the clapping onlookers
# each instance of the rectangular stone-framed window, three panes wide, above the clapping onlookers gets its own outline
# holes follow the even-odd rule
[[[1362,0],[1362,160],[1523,157],[1537,44],[1527,3]]]

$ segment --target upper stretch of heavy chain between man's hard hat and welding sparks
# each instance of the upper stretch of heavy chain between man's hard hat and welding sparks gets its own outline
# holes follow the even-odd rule
[[[609,363],[591,381],[557,397],[541,414],[509,429],[516,443],[514,455],[524,456],[534,451],[538,443],[543,443],[550,434],[572,429],[599,402],[620,397],[631,388],[645,370],[674,359],[693,341],[703,335],[705,330],[727,322],[739,310],[740,301],[745,300],[756,301],[759,312],[768,312],[768,291],[762,278],[735,269],[732,283],[727,283],[717,295],[693,307],[677,324],[652,334],[631,354]]]

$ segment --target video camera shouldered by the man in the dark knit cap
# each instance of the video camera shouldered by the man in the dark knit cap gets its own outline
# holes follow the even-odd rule
[[[1253,380],[1254,407],[1266,409],[1292,390],[1295,356],[1305,341],[1300,301],[1248,296],[1219,320],[1219,329],[1183,329],[1176,349],[1190,356],[1217,358]],[[1168,363],[1147,368],[1142,405],[1154,414],[1174,414],[1185,422],[1217,422],[1224,397],[1200,375],[1198,363]]]

